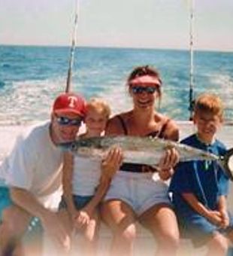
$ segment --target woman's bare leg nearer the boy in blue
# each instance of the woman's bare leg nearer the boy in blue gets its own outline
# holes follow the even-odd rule
[[[139,220],[156,238],[156,256],[174,256],[179,246],[179,230],[174,211],[166,204],[153,206]]]

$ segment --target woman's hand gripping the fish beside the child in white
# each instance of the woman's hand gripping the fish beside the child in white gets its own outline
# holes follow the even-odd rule
[[[123,163],[123,151],[118,146],[113,146],[102,160],[102,178],[112,178]]]

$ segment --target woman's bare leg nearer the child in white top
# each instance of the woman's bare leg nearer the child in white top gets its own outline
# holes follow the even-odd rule
[[[110,255],[131,256],[136,236],[132,208],[123,201],[109,200],[101,206],[101,218],[113,232]]]

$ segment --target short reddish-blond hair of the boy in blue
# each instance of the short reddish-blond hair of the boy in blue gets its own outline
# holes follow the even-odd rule
[[[222,100],[219,96],[213,93],[203,93],[195,100],[194,105],[195,113],[199,111],[216,114],[221,120],[223,120],[224,107]]]

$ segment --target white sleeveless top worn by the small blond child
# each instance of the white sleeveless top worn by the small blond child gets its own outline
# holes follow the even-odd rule
[[[75,156],[72,179],[73,194],[79,196],[94,195],[100,176],[101,160]]]

